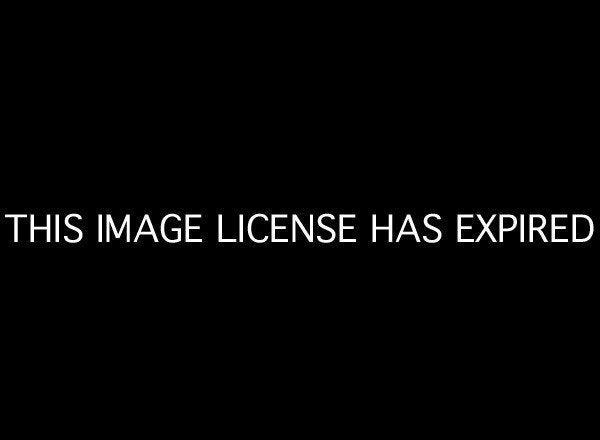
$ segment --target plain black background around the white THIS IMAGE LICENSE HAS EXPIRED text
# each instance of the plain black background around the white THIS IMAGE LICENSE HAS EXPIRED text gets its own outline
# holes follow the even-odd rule
[[[247,12],[30,11],[3,55],[2,213],[356,212],[361,243],[5,240],[12,413],[572,429],[594,389],[597,238],[460,246],[453,218],[597,221],[592,29],[539,11]],[[428,212],[440,245],[368,244],[371,213]]]

